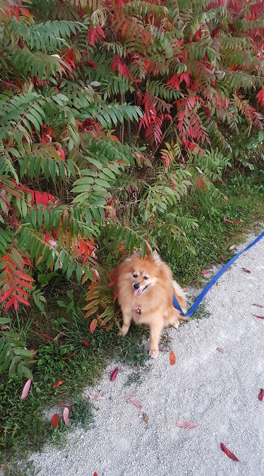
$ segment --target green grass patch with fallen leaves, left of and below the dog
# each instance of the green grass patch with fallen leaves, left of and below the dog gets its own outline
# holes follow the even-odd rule
[[[90,334],[88,322],[83,317],[84,300],[80,289],[74,293],[75,298],[79,296],[79,302],[71,299],[72,291],[68,290],[65,297],[65,289],[61,289],[60,294],[56,297],[61,301],[64,294],[65,303],[71,308],[69,315],[50,296],[48,320],[34,316],[34,308],[30,309],[24,323],[21,318],[14,320],[13,330],[21,330],[29,348],[35,348],[37,359],[32,388],[24,401],[20,397],[25,381],[22,383],[17,377],[0,378],[0,425],[4,427],[0,428],[2,460],[11,454],[19,456],[36,451],[45,443],[61,443],[69,427],[62,420],[60,402],[70,406],[70,428],[77,425],[88,428],[95,407],[82,399],[83,389],[95,383],[111,359],[131,364],[132,372],[148,359],[142,345],[144,328],[132,325],[125,338],[117,335],[117,328],[108,333],[102,328],[96,329]],[[55,338],[54,342],[42,334]],[[82,339],[88,341],[89,347],[80,342]],[[57,380],[63,380],[63,384],[54,388]],[[50,419],[44,417],[45,409],[53,406],[58,407],[61,416],[56,429],[51,426]]]

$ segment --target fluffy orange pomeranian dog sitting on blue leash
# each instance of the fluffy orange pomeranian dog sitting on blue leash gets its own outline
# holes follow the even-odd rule
[[[163,328],[169,325],[177,328],[180,319],[187,320],[173,305],[175,295],[186,312],[185,295],[173,280],[172,271],[156,251],[143,259],[139,249],[119,266],[117,286],[123,313],[119,335],[127,334],[132,320],[136,324],[147,324],[150,327],[149,355],[157,357]]]

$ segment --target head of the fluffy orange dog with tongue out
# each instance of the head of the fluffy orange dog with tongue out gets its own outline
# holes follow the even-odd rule
[[[143,259],[141,251],[137,250],[126,260],[125,279],[131,281],[135,297],[142,296],[157,283],[162,264],[156,251]]]

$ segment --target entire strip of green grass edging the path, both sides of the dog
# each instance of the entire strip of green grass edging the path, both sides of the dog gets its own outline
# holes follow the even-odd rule
[[[179,216],[195,218],[199,224],[199,228],[189,234],[196,255],[180,246],[178,255],[168,254],[165,244],[161,246],[162,257],[181,284],[201,285],[200,271],[223,261],[222,256],[228,260],[233,253],[229,250],[230,245],[243,239],[246,230],[263,220],[263,172],[251,174],[250,177],[235,176],[222,186],[222,191],[228,200],[214,199],[203,190],[194,190],[178,206]],[[223,215],[229,220],[241,222],[238,225],[225,223]],[[110,359],[132,365],[128,384],[140,380],[142,372],[137,372],[138,366],[147,369],[145,363],[148,356],[142,345],[145,329],[132,326],[123,339],[117,336],[115,328],[108,333],[99,328],[90,334],[88,322],[83,318],[84,292],[74,286],[65,283],[50,290],[46,317],[32,308],[28,315],[16,317],[13,321],[11,330],[21,332],[21,338],[29,348],[35,348],[37,361],[32,389],[24,401],[20,399],[24,382],[17,378],[0,377],[0,425],[3,427],[0,428],[0,460],[6,460],[10,454],[16,458],[25,452],[36,451],[44,443],[59,444],[63,441],[68,427],[60,419],[54,430],[43,416],[43,410],[52,406],[61,409],[61,416],[61,401],[71,405],[71,428],[79,424],[88,427],[94,407],[82,399],[82,390],[94,384]],[[201,305],[194,318],[204,317],[205,314]],[[51,342],[41,334],[55,337],[55,341]],[[89,347],[81,343],[81,339],[87,339]],[[62,358],[74,353],[72,357]],[[63,384],[53,388],[57,380],[63,380]],[[12,473],[15,466],[11,465],[11,468],[6,470],[6,475],[36,474],[32,468],[27,473]]]

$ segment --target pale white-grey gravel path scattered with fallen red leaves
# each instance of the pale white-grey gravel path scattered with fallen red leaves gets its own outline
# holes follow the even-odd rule
[[[124,365],[110,382],[116,364],[109,365],[97,387],[86,391],[106,397],[95,402],[94,428],[70,433],[64,449],[46,446],[31,455],[40,475],[263,476],[264,401],[258,394],[264,388],[264,320],[253,314],[264,315],[264,309],[252,303],[264,305],[264,239],[209,292],[209,317],[169,330],[170,349],[151,361],[141,384],[124,386],[131,374]],[[125,401],[132,391],[142,410]],[[178,428],[177,420],[200,426]],[[225,456],[220,442],[240,463]]]

